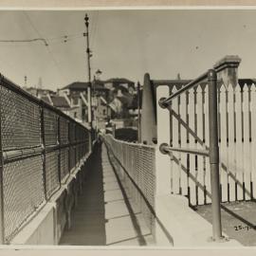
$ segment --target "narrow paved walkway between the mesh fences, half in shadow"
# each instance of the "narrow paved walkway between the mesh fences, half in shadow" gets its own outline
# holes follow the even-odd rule
[[[141,212],[117,178],[104,145],[95,149],[82,195],[60,245],[155,245]]]

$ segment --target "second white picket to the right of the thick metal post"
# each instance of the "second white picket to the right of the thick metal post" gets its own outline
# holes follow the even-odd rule
[[[229,179],[229,201],[235,201],[235,143],[234,143],[234,90],[231,84],[228,87],[228,113],[229,113],[229,164],[228,164],[228,179]]]

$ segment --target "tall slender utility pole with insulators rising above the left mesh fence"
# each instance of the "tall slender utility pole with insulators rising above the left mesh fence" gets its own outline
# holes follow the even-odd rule
[[[84,17],[85,21],[85,27],[86,27],[86,33],[84,36],[86,36],[86,53],[87,53],[87,67],[88,67],[88,86],[87,86],[87,101],[88,101],[88,123],[92,131],[92,82],[91,82],[91,63],[90,63],[90,58],[91,58],[91,51],[90,51],[90,46],[89,46],[89,18],[87,16],[87,13],[85,14]]]

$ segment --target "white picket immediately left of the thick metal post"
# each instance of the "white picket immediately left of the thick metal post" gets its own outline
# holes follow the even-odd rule
[[[205,102],[204,102],[204,116],[205,116],[205,147],[209,150],[209,85],[205,87]],[[206,186],[206,202],[211,203],[210,197],[210,160],[209,157],[205,157],[205,186]]]

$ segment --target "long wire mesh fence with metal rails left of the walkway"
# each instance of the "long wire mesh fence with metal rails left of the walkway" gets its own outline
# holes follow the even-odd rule
[[[57,192],[90,151],[90,131],[0,77],[0,244]]]

